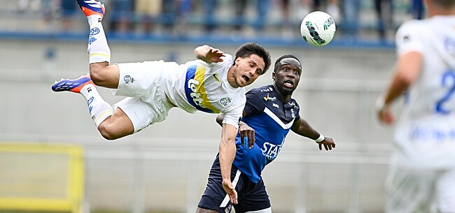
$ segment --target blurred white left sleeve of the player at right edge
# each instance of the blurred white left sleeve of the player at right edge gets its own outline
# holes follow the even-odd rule
[[[395,36],[399,56],[412,51],[425,52],[425,43],[422,42],[422,30],[419,26],[418,20],[410,20],[400,26]]]

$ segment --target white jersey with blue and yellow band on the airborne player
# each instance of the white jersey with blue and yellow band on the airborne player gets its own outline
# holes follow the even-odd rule
[[[246,97],[244,87],[233,88],[228,82],[233,63],[232,56],[225,54],[222,62],[188,61],[179,70],[165,71],[166,94],[186,112],[221,112],[225,116],[223,123],[238,127]]]

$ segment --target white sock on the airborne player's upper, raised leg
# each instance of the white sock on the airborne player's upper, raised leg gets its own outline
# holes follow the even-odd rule
[[[87,20],[90,26],[87,47],[90,64],[104,61],[110,63],[111,49],[109,49],[106,35],[104,34],[101,15],[90,15]]]

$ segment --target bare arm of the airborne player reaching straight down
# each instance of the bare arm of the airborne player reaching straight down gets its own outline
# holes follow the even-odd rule
[[[223,124],[221,131],[221,142],[219,150],[219,159],[221,167],[221,176],[223,177],[223,189],[228,193],[230,201],[234,204],[237,202],[237,191],[231,182],[231,168],[232,162],[235,158],[235,136],[237,135],[237,128],[231,124]]]

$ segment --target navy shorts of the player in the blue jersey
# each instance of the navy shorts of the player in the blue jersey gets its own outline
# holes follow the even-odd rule
[[[234,205],[236,213],[258,211],[270,207],[270,200],[265,190],[262,177],[258,183],[251,182],[246,175],[242,174],[235,166],[232,166],[231,181],[238,196],[238,205]],[[228,194],[223,189],[223,178],[221,177],[220,161],[218,156],[211,166],[207,188],[197,205],[202,209],[215,210],[221,213],[228,213],[232,209]]]

